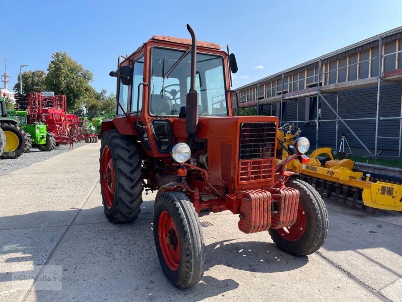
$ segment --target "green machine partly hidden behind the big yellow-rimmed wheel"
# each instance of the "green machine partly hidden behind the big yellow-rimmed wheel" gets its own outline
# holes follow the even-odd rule
[[[18,120],[18,125],[31,135],[32,144],[37,146],[41,151],[51,151],[55,144],[48,144],[46,141],[46,125],[43,123],[35,122],[28,124],[28,111],[22,110],[8,110],[9,117]]]

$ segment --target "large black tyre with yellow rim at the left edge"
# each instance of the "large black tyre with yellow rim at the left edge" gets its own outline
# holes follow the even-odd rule
[[[11,155],[3,153],[2,159],[16,159],[30,150],[32,142],[29,134],[20,126],[11,123],[0,123],[0,128],[3,129],[6,135],[4,151],[11,152]]]

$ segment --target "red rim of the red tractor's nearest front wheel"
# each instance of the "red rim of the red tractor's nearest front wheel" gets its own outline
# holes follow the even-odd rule
[[[158,237],[166,265],[172,271],[176,271],[180,266],[180,241],[173,217],[167,211],[159,215]]]

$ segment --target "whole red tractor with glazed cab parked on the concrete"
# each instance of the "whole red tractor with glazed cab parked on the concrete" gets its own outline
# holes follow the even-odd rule
[[[278,118],[233,116],[234,54],[214,43],[154,36],[118,59],[117,105],[102,123],[100,185],[110,221],[140,214],[142,191],[157,190],[153,234],[159,262],[178,288],[204,273],[205,244],[198,214],[230,210],[238,228],[268,231],[295,256],[316,252],[328,232],[317,191],[276,165]],[[238,108],[238,107],[237,107]],[[288,147],[291,160],[309,159],[310,143]]]

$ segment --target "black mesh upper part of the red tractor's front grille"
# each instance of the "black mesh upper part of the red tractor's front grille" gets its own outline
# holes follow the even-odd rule
[[[274,122],[242,123],[240,126],[240,160],[274,157],[276,124]]]

